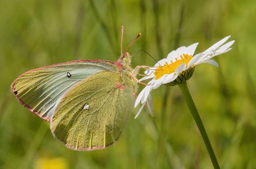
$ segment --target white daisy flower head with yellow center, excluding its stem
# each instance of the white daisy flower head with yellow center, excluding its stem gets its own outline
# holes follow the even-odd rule
[[[154,67],[150,68],[150,70],[146,70],[145,74],[147,76],[141,78],[140,81],[150,78],[152,79],[148,82],[148,86],[141,91],[135,101],[134,107],[137,107],[140,102],[142,103],[142,107],[136,114],[135,118],[139,116],[144,105],[146,103],[149,104],[150,92],[153,89],[160,87],[162,84],[175,86],[179,83],[185,82],[192,76],[195,66],[199,64],[210,64],[218,67],[218,63],[212,60],[212,58],[232,49],[230,47],[234,43],[234,40],[224,44],[229,37],[230,36],[224,37],[204,52],[194,56],[194,51],[199,43],[192,44],[188,47],[180,47],[170,52],[166,58],[158,61]],[[150,114],[152,114],[150,105],[148,107],[150,108]]]

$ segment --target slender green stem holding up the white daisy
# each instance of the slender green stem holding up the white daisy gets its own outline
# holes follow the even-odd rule
[[[207,151],[209,153],[209,156],[211,158],[211,162],[212,162],[214,168],[220,168],[220,165],[219,165],[219,163],[216,159],[216,156],[213,152],[213,149],[211,147],[210,140],[209,140],[209,138],[207,136],[207,133],[205,131],[204,124],[203,124],[203,122],[202,122],[202,120],[199,116],[198,110],[196,109],[194,101],[193,101],[193,99],[190,95],[190,92],[188,90],[187,82],[185,81],[185,82],[180,83],[179,87],[181,89],[181,92],[182,92],[185,100],[186,100],[188,108],[189,108],[189,110],[190,110],[190,112],[191,112],[191,114],[194,118],[194,121],[195,121],[196,125],[198,125],[199,131],[200,131],[200,133],[201,133],[201,135],[204,139],[205,146],[207,148]]]

